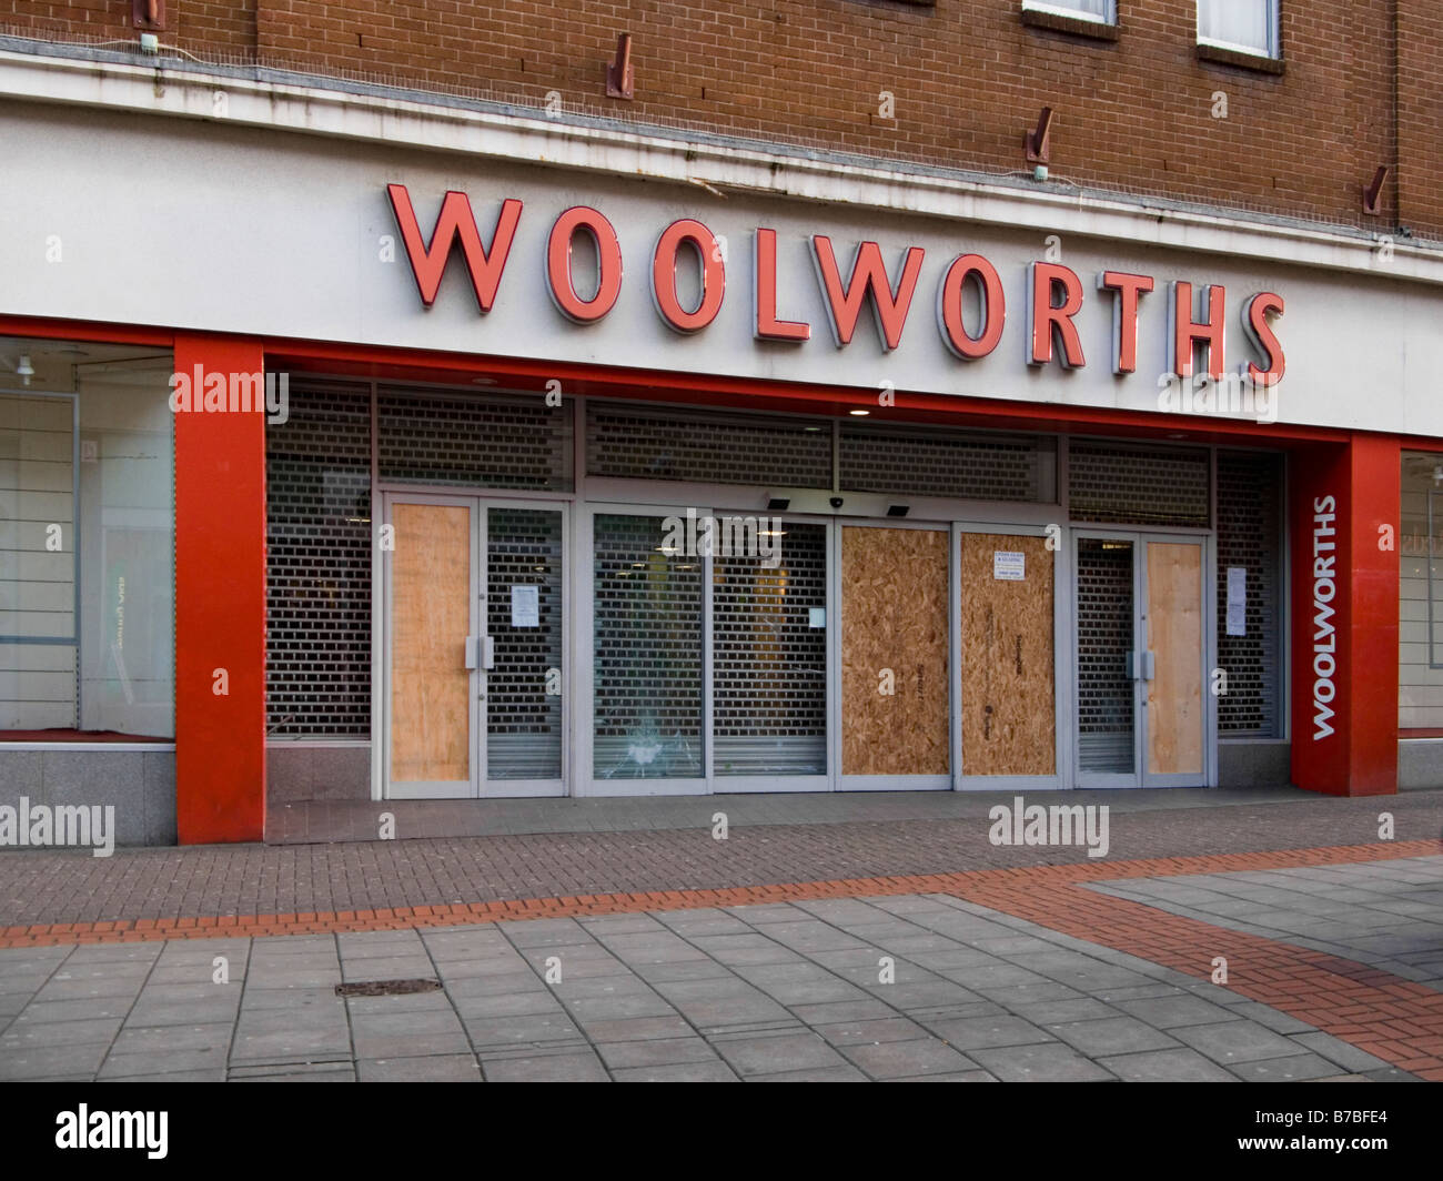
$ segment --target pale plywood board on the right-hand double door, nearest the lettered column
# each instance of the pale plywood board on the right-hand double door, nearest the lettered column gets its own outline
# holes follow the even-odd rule
[[[1147,543],[1147,771],[1202,774],[1202,546]]]

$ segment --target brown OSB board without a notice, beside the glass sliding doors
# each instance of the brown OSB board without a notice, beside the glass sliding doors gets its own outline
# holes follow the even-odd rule
[[[947,575],[941,530],[843,528],[844,775],[948,772]]]

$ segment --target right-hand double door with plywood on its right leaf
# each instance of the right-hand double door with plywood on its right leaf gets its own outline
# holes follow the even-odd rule
[[[1079,531],[1076,785],[1205,787],[1208,543]]]

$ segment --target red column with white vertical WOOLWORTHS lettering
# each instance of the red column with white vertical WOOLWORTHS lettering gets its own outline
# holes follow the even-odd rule
[[[1400,462],[1395,439],[1365,435],[1290,459],[1291,758],[1309,791],[1398,790]]]

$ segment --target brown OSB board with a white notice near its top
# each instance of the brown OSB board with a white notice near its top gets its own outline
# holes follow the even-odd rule
[[[962,534],[964,775],[1056,774],[1053,565],[1045,537]]]

